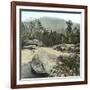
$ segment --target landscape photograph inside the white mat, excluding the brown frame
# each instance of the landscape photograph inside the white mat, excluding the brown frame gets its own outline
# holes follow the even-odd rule
[[[80,12],[21,9],[21,79],[80,76],[80,22]]]

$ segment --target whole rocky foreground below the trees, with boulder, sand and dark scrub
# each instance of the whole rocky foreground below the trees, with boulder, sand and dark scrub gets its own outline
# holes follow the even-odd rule
[[[34,50],[23,49],[21,51],[21,78],[78,76],[79,54],[72,51],[65,52],[65,50],[63,52],[62,48],[56,50],[58,48],[54,46],[54,48],[37,47]]]

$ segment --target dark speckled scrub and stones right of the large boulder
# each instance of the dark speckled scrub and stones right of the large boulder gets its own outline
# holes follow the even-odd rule
[[[80,57],[77,54],[72,54],[69,57],[59,56],[57,64],[51,71],[55,76],[79,76],[80,75]]]

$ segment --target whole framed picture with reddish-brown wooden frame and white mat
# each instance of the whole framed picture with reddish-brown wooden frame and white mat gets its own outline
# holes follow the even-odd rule
[[[12,8],[11,87],[87,83],[87,7],[12,2]]]

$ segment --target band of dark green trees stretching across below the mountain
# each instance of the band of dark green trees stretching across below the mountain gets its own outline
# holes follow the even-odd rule
[[[53,46],[56,44],[76,44],[80,42],[80,28],[78,26],[73,28],[72,21],[66,21],[66,28],[64,33],[58,33],[52,29],[43,27],[39,19],[29,22],[29,25],[21,23],[21,46],[26,44],[27,40],[37,39],[41,41],[44,46]]]

